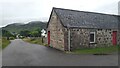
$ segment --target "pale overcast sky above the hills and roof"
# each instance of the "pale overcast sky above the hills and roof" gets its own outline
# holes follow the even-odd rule
[[[0,27],[48,21],[52,7],[118,15],[120,0],[0,0]]]

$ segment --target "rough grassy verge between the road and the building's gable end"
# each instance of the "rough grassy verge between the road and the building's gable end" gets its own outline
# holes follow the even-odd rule
[[[26,42],[29,42],[29,43],[32,43],[32,44],[40,44],[40,45],[47,46],[47,44],[42,43],[42,38],[34,38],[34,39],[24,38],[23,41],[26,41]]]

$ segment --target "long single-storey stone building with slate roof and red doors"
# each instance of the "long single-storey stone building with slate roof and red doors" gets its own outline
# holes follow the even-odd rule
[[[117,15],[53,8],[47,23],[48,45],[62,51],[116,46],[119,21]]]

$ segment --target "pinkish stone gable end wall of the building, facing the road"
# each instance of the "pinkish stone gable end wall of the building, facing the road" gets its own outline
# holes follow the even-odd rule
[[[50,46],[64,51],[64,27],[54,11],[47,31],[50,31]]]

